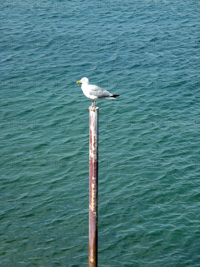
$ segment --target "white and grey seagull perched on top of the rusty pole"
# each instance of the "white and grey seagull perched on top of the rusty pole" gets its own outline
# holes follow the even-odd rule
[[[77,83],[82,83],[81,89],[83,91],[83,94],[87,98],[92,99],[91,110],[95,110],[95,103],[97,100],[116,99],[117,97],[119,97],[119,95],[111,94],[105,89],[102,89],[97,85],[89,84],[89,80],[86,77],[82,78]],[[94,106],[93,106],[93,103],[94,103]]]

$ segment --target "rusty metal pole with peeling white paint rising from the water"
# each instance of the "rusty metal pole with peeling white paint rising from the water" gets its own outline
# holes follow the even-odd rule
[[[97,267],[99,107],[89,107],[89,121],[89,267]]]

